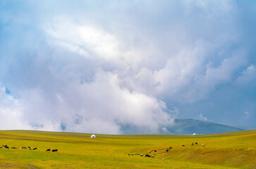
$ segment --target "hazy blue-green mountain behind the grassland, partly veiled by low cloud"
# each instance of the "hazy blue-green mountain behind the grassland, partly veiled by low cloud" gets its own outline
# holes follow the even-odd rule
[[[148,129],[123,125],[121,130],[123,134],[214,134],[244,130],[240,127],[231,127],[194,119],[175,119],[174,124],[161,126],[161,128],[162,130],[151,133]]]

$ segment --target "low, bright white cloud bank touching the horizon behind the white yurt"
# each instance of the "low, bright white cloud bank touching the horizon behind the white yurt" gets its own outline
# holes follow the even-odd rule
[[[26,121],[37,130],[61,130],[63,125],[66,131],[120,134],[120,125],[134,125],[141,132],[156,133],[161,125],[172,123],[164,102],[121,88],[112,73],[101,71],[89,83],[62,82],[51,96],[42,89],[22,94],[30,115]]]

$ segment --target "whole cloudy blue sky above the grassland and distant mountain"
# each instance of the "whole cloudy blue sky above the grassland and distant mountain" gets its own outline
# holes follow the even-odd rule
[[[0,1],[0,130],[256,125],[256,1]]]

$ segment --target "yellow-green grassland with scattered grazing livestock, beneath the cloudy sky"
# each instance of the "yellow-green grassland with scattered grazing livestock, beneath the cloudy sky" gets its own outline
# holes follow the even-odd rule
[[[0,131],[0,144],[18,147],[0,149],[0,168],[256,168],[256,130],[199,136],[97,134],[96,139],[81,133],[12,130]]]

